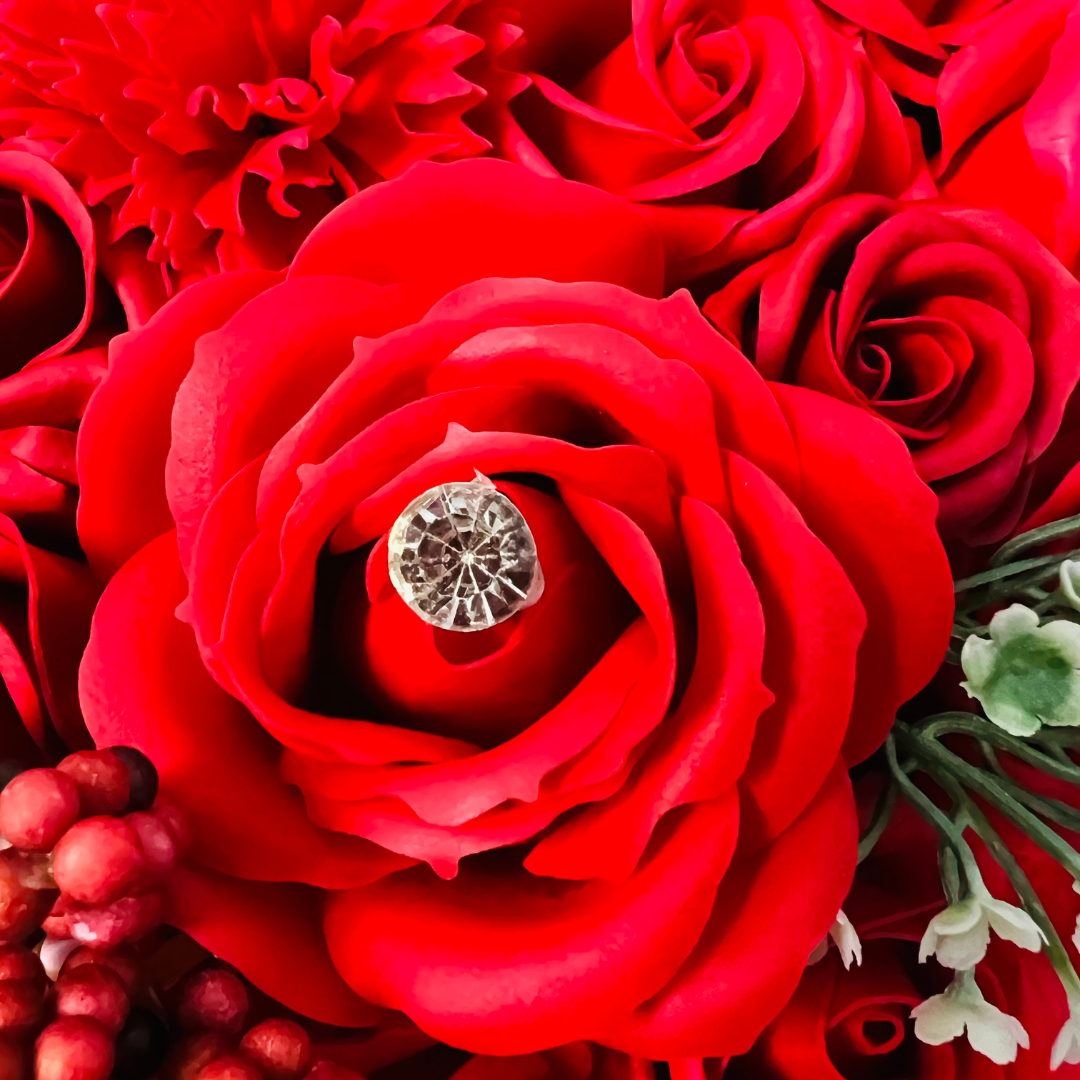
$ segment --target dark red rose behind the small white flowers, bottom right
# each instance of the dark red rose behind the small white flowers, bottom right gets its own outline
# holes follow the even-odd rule
[[[1059,798],[1068,786],[1048,783],[1035,769],[1015,774],[1043,795]],[[995,827],[1067,940],[1080,904],[1069,875],[997,815]],[[975,847],[990,891],[1016,903],[1000,867],[977,840]],[[845,901],[862,939],[862,963],[845,971],[836,949],[829,949],[820,963],[808,967],[784,1011],[748,1055],[728,1064],[724,1080],[1044,1080],[1051,1075],[1051,1048],[1069,1015],[1065,991],[1044,953],[1028,953],[997,937],[976,968],[976,981],[991,1005],[1021,1022],[1030,1045],[1002,1066],[976,1053],[963,1037],[937,1047],[916,1038],[910,1010],[940,994],[951,977],[933,959],[918,962],[918,942],[944,906],[936,853],[936,834],[901,801]],[[720,1064],[706,1063],[706,1072]],[[1062,1065],[1053,1076],[1080,1077],[1080,1066]]]

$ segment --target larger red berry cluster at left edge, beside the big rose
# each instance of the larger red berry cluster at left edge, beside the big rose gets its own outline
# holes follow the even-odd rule
[[[132,1008],[139,963],[123,943],[160,923],[158,890],[186,842],[183,821],[131,747],[3,772],[0,1080],[146,1080],[165,1025]]]

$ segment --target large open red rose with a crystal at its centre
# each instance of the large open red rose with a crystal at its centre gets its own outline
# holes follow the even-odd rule
[[[487,1054],[729,1053],[831,924],[847,766],[949,631],[936,503],[892,432],[767,383],[662,278],[620,200],[419,164],[287,275],[114,342],[79,437],[116,571],[83,708],[190,819],[171,920],[285,1004]],[[475,470],[548,584],[456,634],[386,534]]]

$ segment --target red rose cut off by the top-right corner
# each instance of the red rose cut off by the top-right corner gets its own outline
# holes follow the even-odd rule
[[[973,28],[937,81],[943,194],[1027,226],[1080,272],[1080,6],[1003,4]]]

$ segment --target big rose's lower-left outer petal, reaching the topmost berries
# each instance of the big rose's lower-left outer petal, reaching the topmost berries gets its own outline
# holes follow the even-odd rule
[[[186,588],[167,534],[106,589],[79,679],[97,744],[135,746],[154,762],[162,792],[191,825],[197,858],[222,874],[333,889],[408,865],[311,824],[299,793],[278,774],[279,747],[214,684],[174,617]]]

